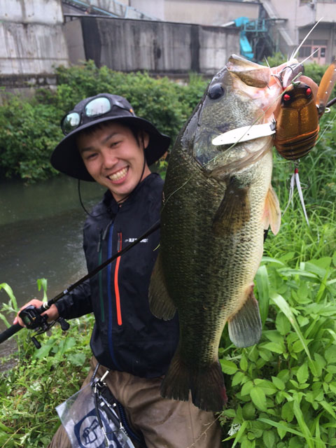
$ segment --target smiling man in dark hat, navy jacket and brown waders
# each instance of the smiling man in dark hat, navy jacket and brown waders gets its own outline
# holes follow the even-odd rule
[[[62,120],[66,137],[52,153],[52,166],[107,188],[84,225],[88,272],[141,236],[160,219],[163,181],[148,165],[167,151],[170,139],[150,122],[135,116],[123,97],[99,94],[84,99]],[[155,318],[148,286],[158,255],[158,230],[106,269],[52,305],[46,313],[75,318],[93,311],[90,346],[111,392],[125,408],[131,425],[148,448],[218,448],[221,428],[214,414],[189,402],[160,396],[179,339],[178,317]],[[32,300],[29,304],[40,306]],[[20,318],[15,322],[23,325]],[[71,444],[61,427],[49,447]]]

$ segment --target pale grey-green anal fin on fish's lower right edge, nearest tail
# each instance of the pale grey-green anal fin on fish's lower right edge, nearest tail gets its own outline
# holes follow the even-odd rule
[[[230,340],[237,347],[248,347],[259,342],[262,323],[253,286],[243,307],[228,320],[228,328]]]

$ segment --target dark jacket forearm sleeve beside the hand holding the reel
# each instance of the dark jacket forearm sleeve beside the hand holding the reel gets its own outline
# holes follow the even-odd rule
[[[66,294],[55,303],[59,316],[72,319],[92,313],[89,280],[84,281],[71,293]]]

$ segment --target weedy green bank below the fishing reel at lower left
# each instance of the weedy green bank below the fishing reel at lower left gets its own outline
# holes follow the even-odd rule
[[[45,287],[45,279],[39,280],[38,289]],[[10,286],[1,283],[1,288],[10,298],[1,307],[0,318],[10,326],[3,312],[16,314],[18,306]],[[29,330],[16,333],[18,352],[9,360],[15,365],[0,372],[1,447],[48,445],[59,426],[55,406],[76,393],[87,374],[92,323],[93,316],[73,319],[68,332],[55,325],[51,335],[38,336],[39,350],[32,344]]]

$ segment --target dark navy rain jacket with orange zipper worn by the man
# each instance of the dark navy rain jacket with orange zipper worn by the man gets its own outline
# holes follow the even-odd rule
[[[84,225],[88,272],[143,235],[160,218],[163,181],[150,174],[123,203],[109,191]],[[90,346],[99,363],[139,377],[167,372],[179,339],[177,315],[155,318],[149,309],[148,286],[158,255],[160,232],[127,251],[90,281],[56,303],[59,315],[75,318],[94,312]]]

